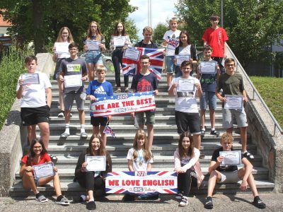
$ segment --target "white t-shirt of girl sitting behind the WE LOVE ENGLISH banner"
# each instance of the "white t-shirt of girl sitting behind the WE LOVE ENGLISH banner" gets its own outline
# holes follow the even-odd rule
[[[135,172],[146,171],[148,163],[154,163],[154,160],[151,158],[147,161],[144,160],[144,150],[137,151],[137,158],[134,160],[134,148],[130,148],[127,155],[127,160],[133,161],[133,168]]]

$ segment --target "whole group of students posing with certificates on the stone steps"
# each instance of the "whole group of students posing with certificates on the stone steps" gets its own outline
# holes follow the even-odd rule
[[[190,37],[187,31],[180,32],[177,30],[178,22],[175,18],[170,20],[171,30],[165,33],[164,45],[176,45],[175,49],[166,48],[166,68],[167,68],[167,83],[168,94],[175,95],[175,121],[180,134],[178,149],[174,153],[175,158],[175,172],[178,173],[178,195],[180,199],[179,206],[187,206],[187,196],[190,192],[192,184],[202,182],[203,175],[200,169],[199,158],[204,158],[204,154],[200,153],[201,134],[204,136],[204,113],[209,105],[209,115],[211,118],[211,133],[219,136],[219,132],[215,130],[215,108],[216,98],[221,102],[225,102],[225,95],[243,95],[243,100],[248,101],[246,91],[243,87],[243,79],[241,75],[235,72],[235,61],[233,59],[226,59],[224,66],[226,73],[224,73],[222,66],[222,59],[226,58],[226,33],[224,29],[218,26],[219,16],[212,16],[212,28],[205,31],[202,39],[204,40],[204,61],[212,61],[215,59],[219,66],[217,66],[216,73],[200,73],[197,71],[197,78],[191,76],[192,66],[196,64],[196,51],[193,45],[190,45]],[[137,43],[137,47],[151,47],[156,46],[151,41],[153,31],[151,28],[144,28],[144,40]],[[223,37],[219,36],[223,35]],[[113,36],[126,36],[125,45],[117,47],[113,45],[113,39],[110,41],[110,47],[113,49],[112,61],[115,67],[115,81],[116,93],[120,93],[120,64],[122,65],[122,54],[125,48],[131,45],[129,36],[125,33],[125,27],[122,23],[115,25]],[[98,23],[91,22],[88,28],[88,40],[100,41],[98,50],[88,50],[85,44],[83,49],[86,51],[86,62],[78,57],[79,45],[77,45],[71,37],[69,28],[64,27],[60,30],[57,37],[57,42],[69,43],[69,54],[53,54],[53,60],[56,61],[56,68],[54,71],[54,79],[57,79],[59,86],[59,105],[61,112],[58,117],[65,117],[65,131],[61,135],[62,138],[67,138],[70,135],[69,124],[71,118],[71,107],[76,100],[76,107],[79,111],[79,119],[81,124],[81,138],[87,138],[85,131],[85,114],[84,102],[85,100],[96,101],[96,98],[113,95],[112,85],[105,80],[105,67],[102,63],[101,51],[105,50],[105,38],[100,33]],[[215,47],[216,45],[216,47]],[[215,50],[217,49],[217,50]],[[53,48],[53,53],[55,52]],[[173,50],[173,51],[172,51]],[[218,52],[216,55],[214,52]],[[220,54],[219,54],[220,52]],[[183,61],[182,64],[175,69],[175,54],[190,54],[190,59]],[[141,70],[134,76],[132,80],[131,89],[133,92],[154,91],[158,95],[158,81],[154,73],[149,70],[150,58],[147,55],[141,56],[140,59]],[[27,57],[25,59],[25,66],[28,73],[36,73],[37,59],[36,57]],[[173,78],[173,71],[176,71],[176,78]],[[64,77],[71,75],[80,75],[81,81],[89,81],[87,90],[82,86],[66,88],[64,86]],[[94,77],[97,76],[97,80]],[[37,190],[37,185],[43,185],[54,180],[54,189],[57,194],[56,203],[69,204],[69,201],[62,196],[59,187],[59,177],[47,177],[46,179],[33,178],[33,165],[50,162],[51,159],[56,159],[54,155],[47,154],[49,141],[49,125],[48,118],[50,115],[50,106],[52,100],[51,84],[44,73],[39,73],[39,84],[24,84],[21,77],[17,86],[17,98],[22,98],[21,101],[21,118],[24,126],[28,126],[28,141],[30,142],[30,151],[22,159],[21,176],[23,176],[23,187],[33,189],[38,201],[47,201]],[[178,90],[178,80],[181,78],[193,79],[195,90],[192,92]],[[129,78],[125,76],[125,92],[129,92]],[[47,98],[45,98],[47,93]],[[200,114],[197,107],[197,98],[200,98]],[[238,126],[241,128],[241,142],[242,142],[242,162],[245,165],[240,170],[237,167],[220,167],[223,157],[214,152],[212,162],[209,166],[209,188],[205,208],[212,208],[212,192],[216,182],[231,183],[238,182],[243,179],[241,189],[246,190],[247,184],[252,189],[255,199],[253,203],[259,208],[264,208],[258,197],[258,192],[255,187],[253,175],[251,173],[253,166],[248,159],[253,159],[248,151],[246,151],[246,128],[248,126],[246,120],[246,113],[243,110],[224,109],[223,125],[226,133],[221,137],[221,145],[224,151],[231,151],[233,137],[233,119],[236,119]],[[144,120],[146,115],[146,122]],[[137,170],[151,170],[151,163],[153,156],[151,154],[151,146],[154,138],[154,111],[135,112],[132,117],[137,119],[139,130],[134,138],[133,148],[129,150],[127,155],[128,167],[130,171]],[[93,125],[93,136],[88,143],[88,148],[81,153],[78,164],[76,165],[75,176],[79,184],[87,190],[87,196],[81,196],[81,201],[88,201],[87,208],[94,209],[96,204],[94,199],[105,196],[105,176],[107,172],[111,172],[112,163],[110,155],[105,151],[106,136],[104,128],[108,124],[111,116],[108,117],[93,117],[91,112],[91,124]],[[40,141],[36,139],[35,126],[38,124],[40,128]],[[147,126],[148,135],[144,133],[144,124]],[[187,133],[190,131],[190,133]],[[101,136],[99,136],[100,134]],[[219,151],[219,150],[218,150]],[[219,154],[219,153],[218,153]],[[105,155],[106,156],[106,170],[105,172],[86,172],[86,163],[84,163],[85,155]],[[248,158],[248,159],[247,159]],[[57,172],[57,168],[54,167]],[[158,194],[148,194],[141,196],[126,195],[125,200],[132,199],[157,199]]]

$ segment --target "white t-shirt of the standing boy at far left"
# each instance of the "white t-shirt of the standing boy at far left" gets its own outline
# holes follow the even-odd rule
[[[47,75],[42,72],[35,72],[39,74],[39,84],[28,84],[23,86],[23,98],[21,100],[21,107],[42,107],[46,105],[45,89],[51,88],[51,83]],[[18,80],[21,79],[21,76]],[[17,91],[20,88],[17,84]]]

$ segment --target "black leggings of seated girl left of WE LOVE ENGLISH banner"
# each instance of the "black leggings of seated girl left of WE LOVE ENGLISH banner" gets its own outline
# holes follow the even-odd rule
[[[105,194],[105,181],[102,177],[93,177],[94,172],[82,172],[81,177],[78,178],[78,182],[81,187],[86,191],[93,191],[93,197],[95,199],[106,196]]]

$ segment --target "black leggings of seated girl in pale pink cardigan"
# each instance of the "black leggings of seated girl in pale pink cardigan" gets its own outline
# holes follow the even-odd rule
[[[191,186],[197,186],[197,178],[192,176],[191,172],[195,171],[187,170],[185,173],[178,174],[178,192],[183,192],[184,196],[189,196]]]

